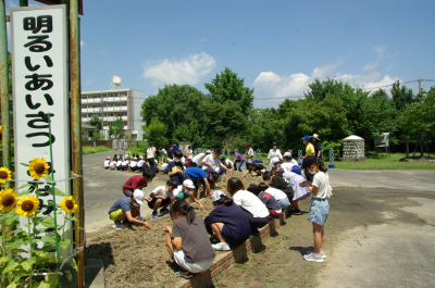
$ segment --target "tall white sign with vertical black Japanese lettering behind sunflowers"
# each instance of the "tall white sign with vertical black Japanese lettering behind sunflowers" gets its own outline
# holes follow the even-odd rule
[[[27,167],[21,163],[28,163],[34,158],[50,161],[49,137],[53,147],[54,178],[70,178],[65,5],[11,8],[10,11],[16,179],[32,179]],[[17,187],[23,184],[18,183]],[[40,189],[44,187],[40,185]],[[70,181],[57,183],[55,187],[71,193]],[[57,202],[60,201],[61,197],[58,197]],[[59,221],[63,223],[63,220]]]

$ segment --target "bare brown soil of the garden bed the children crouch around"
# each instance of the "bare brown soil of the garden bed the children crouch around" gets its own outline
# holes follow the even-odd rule
[[[250,184],[259,184],[261,177],[247,176],[241,178],[241,173],[234,172],[229,176],[239,177],[245,188]],[[220,187],[226,190],[226,180]],[[196,213],[204,218],[213,210],[211,199],[201,199],[204,209],[192,203]],[[164,226],[172,227],[170,215],[150,218],[152,229],[142,226],[128,227],[122,230],[111,230],[87,240],[86,256],[100,259],[105,267],[105,287],[177,287],[185,283],[184,279],[172,274],[174,262],[170,258],[164,243],[166,233]],[[227,252],[226,252],[227,253]],[[216,260],[225,252],[217,252]]]

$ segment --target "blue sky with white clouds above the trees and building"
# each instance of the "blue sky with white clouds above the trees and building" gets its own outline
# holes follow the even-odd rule
[[[174,83],[207,92],[228,66],[257,99],[272,98],[254,101],[265,108],[318,77],[364,88],[435,79],[434,11],[433,0],[84,0],[82,90],[117,75],[144,97]]]

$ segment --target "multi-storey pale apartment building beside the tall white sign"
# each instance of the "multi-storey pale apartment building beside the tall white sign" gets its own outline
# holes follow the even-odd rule
[[[92,116],[98,116],[103,123],[103,139],[110,139],[109,124],[121,117],[126,135],[141,140],[140,110],[144,100],[142,92],[134,89],[82,92],[82,122],[87,123]]]

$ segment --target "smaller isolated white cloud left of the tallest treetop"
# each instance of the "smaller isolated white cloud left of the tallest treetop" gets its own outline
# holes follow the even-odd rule
[[[156,64],[148,63],[144,66],[142,76],[152,79],[152,85],[161,84],[189,84],[196,85],[201,77],[212,72],[216,66],[213,57],[201,52],[181,60],[165,59]]]

